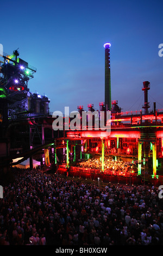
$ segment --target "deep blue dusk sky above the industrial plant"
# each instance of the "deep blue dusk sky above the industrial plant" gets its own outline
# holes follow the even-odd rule
[[[111,99],[123,111],[142,109],[143,81],[148,100],[163,108],[163,1],[1,1],[3,51],[17,48],[37,69],[30,92],[45,94],[50,111],[70,111],[104,101],[104,43],[109,41]]]

